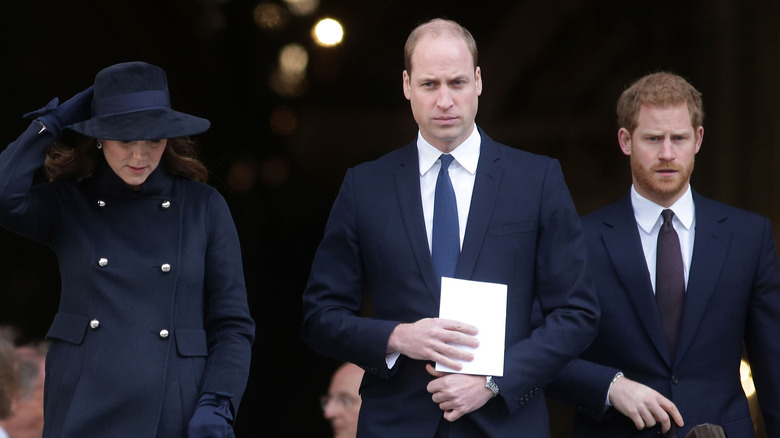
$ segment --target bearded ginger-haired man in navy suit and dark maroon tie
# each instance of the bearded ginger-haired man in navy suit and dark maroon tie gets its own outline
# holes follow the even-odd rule
[[[767,436],[778,437],[780,263],[769,220],[691,190],[704,112],[683,78],[645,76],[617,110],[633,186],[583,219],[599,333],[549,392],[577,406],[575,437],[682,438],[702,423],[753,437],[740,382],[744,346]],[[659,238],[667,209],[683,278],[680,302],[661,307],[673,258]],[[663,322],[672,315],[676,330]]]

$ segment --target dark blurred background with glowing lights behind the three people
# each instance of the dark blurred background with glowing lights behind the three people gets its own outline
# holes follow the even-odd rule
[[[299,336],[300,296],[349,166],[412,141],[401,90],[408,32],[459,21],[480,48],[477,123],[558,158],[581,214],[623,195],[615,102],[669,70],[704,95],[693,181],[780,224],[780,3],[773,0],[25,0],[0,6],[0,144],[21,115],[86,88],[110,64],[163,67],[242,240],[257,321],[239,436],[327,436],[319,395],[337,362]],[[314,31],[318,23],[325,21]],[[45,247],[0,230],[0,323],[45,334],[58,304]],[[557,409],[557,408],[556,408]],[[560,414],[560,416],[559,416]],[[565,411],[554,419],[565,425]],[[557,421],[557,420],[556,420]]]

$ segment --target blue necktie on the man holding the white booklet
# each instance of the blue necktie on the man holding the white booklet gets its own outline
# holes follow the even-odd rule
[[[458,206],[448,170],[452,163],[452,155],[442,154],[440,159],[441,169],[436,178],[436,191],[433,198],[433,236],[431,237],[433,269],[439,279],[455,276],[455,267],[460,256]]]

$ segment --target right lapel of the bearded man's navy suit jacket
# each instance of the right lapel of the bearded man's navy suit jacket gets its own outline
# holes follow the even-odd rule
[[[722,226],[726,216],[718,213],[710,200],[698,196],[696,192],[693,196],[696,209],[696,236],[677,347],[678,360],[690,346],[710,297],[715,292],[715,285],[719,278],[717,273],[721,272],[731,239],[731,231]]]

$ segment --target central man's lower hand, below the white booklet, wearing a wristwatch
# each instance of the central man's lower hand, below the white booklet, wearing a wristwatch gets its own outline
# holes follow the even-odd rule
[[[485,387],[485,376],[440,373],[431,364],[426,364],[425,369],[436,377],[428,383],[427,389],[433,402],[444,411],[447,421],[474,412],[493,398],[493,391]]]

